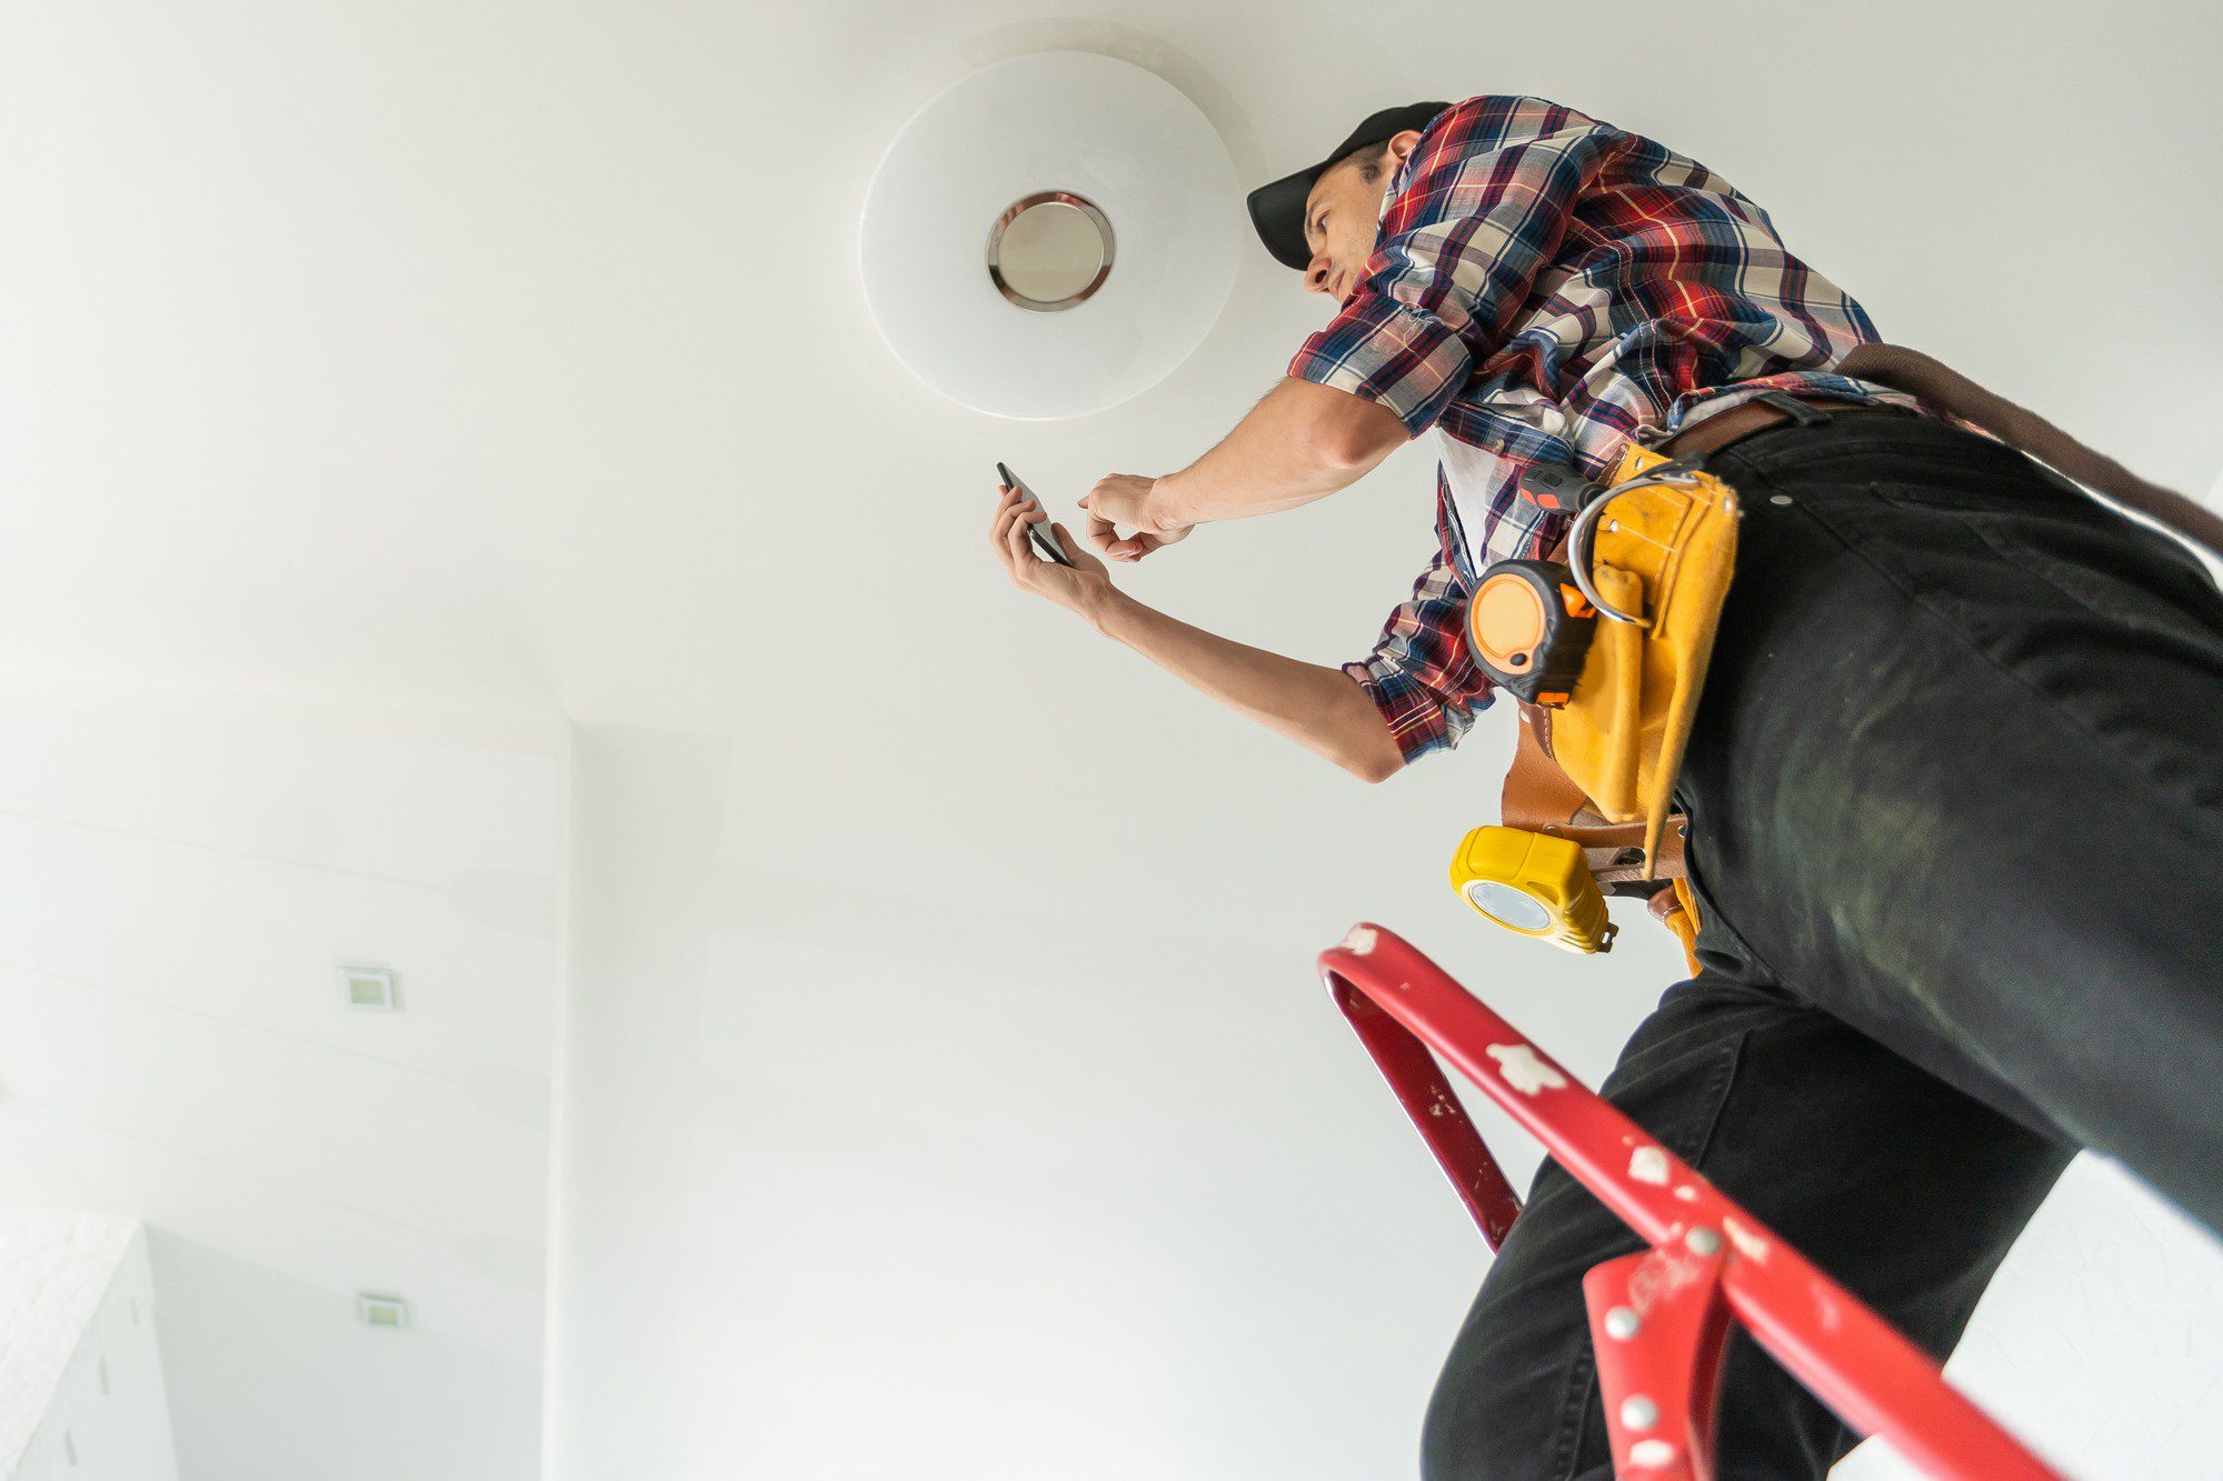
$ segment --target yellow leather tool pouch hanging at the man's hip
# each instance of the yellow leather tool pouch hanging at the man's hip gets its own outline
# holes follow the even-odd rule
[[[1667,801],[1698,714],[1714,629],[1736,565],[1736,494],[1712,474],[1652,469],[1667,458],[1629,443],[1614,489],[1592,507],[1585,549],[1567,560],[1596,589],[1601,623],[1549,749],[1607,823],[1643,823],[1654,878]],[[1638,623],[1612,620],[1612,612]],[[1507,818],[1512,821],[1512,818]]]

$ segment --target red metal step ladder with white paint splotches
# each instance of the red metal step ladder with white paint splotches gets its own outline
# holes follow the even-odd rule
[[[1721,1354],[1734,1316],[1854,1432],[1881,1434],[1925,1472],[2058,1481],[1887,1321],[1407,941],[1356,925],[1320,952],[1320,976],[1492,1250],[1521,1199],[1436,1054],[1652,1245],[1583,1276],[1616,1477],[1712,1481]]]

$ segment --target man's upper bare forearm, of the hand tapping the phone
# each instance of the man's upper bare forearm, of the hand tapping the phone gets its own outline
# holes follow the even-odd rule
[[[1294,509],[1358,483],[1407,440],[1387,407],[1285,378],[1218,447],[1160,478],[1149,511],[1178,527]]]

